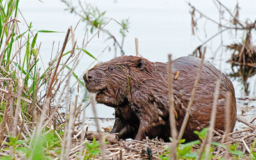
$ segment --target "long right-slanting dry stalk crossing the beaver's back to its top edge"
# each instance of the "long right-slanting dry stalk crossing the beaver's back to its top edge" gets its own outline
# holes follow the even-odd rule
[[[191,92],[191,96],[190,96],[190,99],[189,99],[188,108],[186,110],[186,114],[185,114],[184,120],[182,122],[182,126],[180,127],[180,132],[179,132],[179,136],[178,136],[178,140],[177,140],[178,142],[182,138],[182,136],[184,134],[184,131],[185,131],[185,128],[186,128],[186,125],[188,123],[190,108],[191,108],[191,106],[193,104],[193,101],[194,101],[194,98],[195,98],[196,88],[197,88],[197,85],[198,85],[198,82],[199,82],[199,79],[200,79],[202,66],[203,66],[203,63],[204,63],[204,54],[205,53],[202,54],[202,60],[200,62],[200,66],[198,68],[198,72],[197,72],[196,79],[195,79],[195,84],[194,84],[194,87],[193,87],[193,90]]]

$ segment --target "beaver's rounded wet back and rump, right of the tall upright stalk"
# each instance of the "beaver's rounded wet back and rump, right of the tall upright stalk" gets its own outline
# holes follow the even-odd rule
[[[196,74],[200,66],[201,59],[196,57],[180,57],[173,61],[173,74],[179,71],[179,76],[173,80],[173,89],[179,92],[178,96],[184,101],[189,101]],[[209,62],[204,62],[198,87],[195,92],[195,99],[191,107],[191,115],[188,122],[188,129],[200,131],[209,126],[211,118],[211,108],[213,105],[214,89],[216,81],[220,80],[220,94],[216,113],[216,126],[218,130],[225,130],[225,100],[227,92],[232,94],[230,106],[230,128],[233,130],[236,124],[236,98],[232,82],[226,75],[212,66]],[[186,135],[184,135],[186,136]],[[188,135],[189,136],[189,135]]]

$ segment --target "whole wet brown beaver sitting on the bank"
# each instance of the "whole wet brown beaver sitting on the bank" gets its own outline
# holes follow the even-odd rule
[[[180,57],[172,61],[175,118],[179,130],[193,90],[201,59]],[[83,76],[89,92],[96,93],[97,103],[115,108],[115,124],[111,133],[119,138],[143,140],[170,137],[168,106],[168,64],[150,62],[143,57],[116,57],[89,69]],[[183,138],[196,140],[193,131],[209,126],[216,81],[220,80],[215,129],[225,129],[225,101],[227,92],[232,94],[230,103],[230,129],[236,124],[236,98],[228,77],[209,62],[204,61],[195,99]]]

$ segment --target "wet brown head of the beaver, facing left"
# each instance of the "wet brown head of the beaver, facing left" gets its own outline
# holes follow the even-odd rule
[[[96,93],[97,103],[115,107],[131,97],[132,87],[141,83],[147,62],[141,57],[116,57],[89,69],[83,79],[88,91]]]

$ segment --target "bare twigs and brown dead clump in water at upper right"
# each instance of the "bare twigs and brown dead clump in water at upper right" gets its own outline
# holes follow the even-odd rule
[[[223,54],[223,49],[231,50],[232,54],[227,62],[230,62],[233,73],[230,73],[231,77],[241,77],[244,85],[244,92],[248,94],[250,91],[248,89],[248,78],[255,75],[256,73],[256,52],[255,44],[253,44],[252,39],[255,36],[256,20],[247,19],[245,21],[239,18],[239,4],[237,3],[234,11],[228,9],[221,1],[213,1],[216,8],[219,11],[219,19],[208,17],[195,6],[189,3],[191,7],[191,29],[192,34],[196,34],[198,30],[198,21],[205,19],[218,27],[218,33],[214,34],[207,40],[205,40],[201,45],[196,47],[191,55],[200,57],[202,55],[202,48],[206,47],[206,44],[212,39],[220,38],[221,54]],[[207,29],[204,29],[207,31]],[[230,45],[223,45],[223,33],[229,33],[232,37],[243,34],[242,38],[238,42],[231,43]],[[217,52],[217,51],[216,51]],[[221,56],[221,55],[220,55]]]

